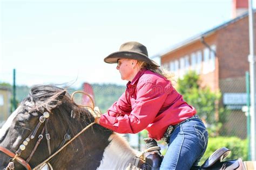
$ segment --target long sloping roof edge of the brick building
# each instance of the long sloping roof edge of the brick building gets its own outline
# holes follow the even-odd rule
[[[255,13],[255,12],[256,12],[256,10],[253,10],[253,13]],[[228,22],[226,22],[226,23],[224,23],[224,24],[221,24],[221,25],[219,25],[219,26],[213,27],[213,29],[211,29],[211,30],[208,30],[208,31],[203,32],[203,33],[199,33],[199,34],[197,34],[196,36],[193,36],[193,37],[188,38],[188,39],[186,39],[186,40],[184,40],[184,41],[181,41],[181,42],[179,42],[178,44],[171,46],[169,49],[167,49],[167,51],[160,52],[159,54],[154,55],[154,56],[152,56],[151,58],[156,58],[156,57],[159,57],[159,56],[160,56],[160,58],[161,58],[163,55],[165,55],[165,54],[167,54],[167,53],[176,51],[177,49],[179,49],[179,48],[181,48],[181,47],[190,45],[190,44],[192,44],[194,41],[200,40],[202,37],[209,36],[209,35],[211,35],[212,33],[214,33],[215,31],[218,31],[218,30],[220,30],[220,29],[223,29],[224,27],[226,27],[226,26],[228,26],[228,25],[230,25],[230,24],[232,24],[232,23],[235,23],[235,22],[237,22],[238,20],[240,20],[240,19],[242,19],[242,18],[245,18],[245,17],[247,17],[247,16],[248,16],[248,12],[245,12],[243,15],[240,15],[240,16],[238,16],[237,18],[231,19],[230,21],[228,21]]]

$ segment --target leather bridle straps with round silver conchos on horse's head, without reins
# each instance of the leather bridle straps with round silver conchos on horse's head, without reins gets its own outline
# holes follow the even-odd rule
[[[21,157],[19,157],[19,155],[21,155],[22,151],[24,151],[26,149],[26,146],[29,144],[29,141],[33,138],[35,138],[36,133],[38,131],[38,129],[40,128],[41,124],[45,122],[45,119],[48,118],[50,116],[49,112],[44,112],[43,116],[41,116],[39,118],[39,122],[36,125],[35,129],[33,129],[33,131],[29,134],[28,138],[26,138],[23,143],[19,146],[18,151],[16,151],[15,153],[11,152],[10,150],[0,146],[0,151],[2,151],[3,153],[5,153],[6,155],[8,155],[9,157],[11,157],[12,159],[10,159],[8,166],[6,167],[6,169],[14,169],[14,161],[17,160],[19,162],[19,164],[23,165],[26,169],[31,170],[30,165],[28,164],[28,162],[30,161],[30,159],[32,158],[33,153],[35,153],[40,141],[43,139],[43,133],[45,131],[45,126],[41,132],[41,134],[38,136],[38,140],[36,145],[34,146],[32,152],[30,153],[29,157],[26,159],[26,161],[24,159],[22,159]]]

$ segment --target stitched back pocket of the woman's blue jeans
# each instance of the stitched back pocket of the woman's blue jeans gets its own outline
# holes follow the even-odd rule
[[[204,126],[194,125],[194,129],[197,132],[198,144],[202,147],[203,150],[206,150],[208,143],[208,132]]]

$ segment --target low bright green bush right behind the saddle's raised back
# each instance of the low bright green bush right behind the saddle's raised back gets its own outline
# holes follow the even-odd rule
[[[242,158],[242,160],[247,160],[247,140],[242,140],[238,137],[215,137],[208,139],[208,146],[205,151],[203,158],[199,165],[203,164],[203,162],[210,157],[210,155],[216,151],[218,148],[227,147],[231,150],[231,154],[228,155],[226,160],[233,160]]]

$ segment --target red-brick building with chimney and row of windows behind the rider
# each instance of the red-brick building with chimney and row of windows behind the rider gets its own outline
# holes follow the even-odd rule
[[[228,118],[226,128],[234,130],[233,126],[228,126],[241,125],[235,133],[245,138],[246,116],[240,107],[232,108],[232,101],[233,104],[245,105],[245,72],[249,70],[250,52],[248,13],[241,12],[246,12],[248,1],[234,0],[233,8],[233,15],[239,16],[173,46],[169,51],[160,54],[160,61],[161,66],[169,69],[177,77],[183,77],[188,70],[194,70],[200,75],[201,86],[208,86],[213,91],[220,90],[223,96],[228,98],[227,102],[231,102],[225,103],[223,100],[224,104],[231,104],[231,110],[234,110]]]

